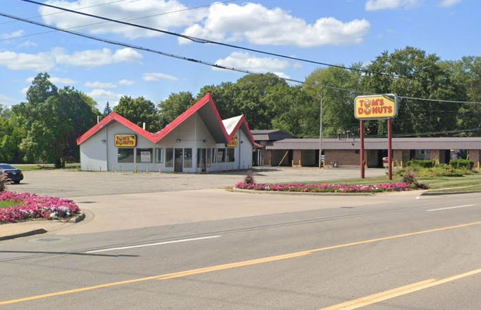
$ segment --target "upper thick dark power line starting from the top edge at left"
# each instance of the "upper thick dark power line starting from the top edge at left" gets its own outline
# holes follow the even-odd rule
[[[109,22],[113,22],[113,23],[120,23],[120,24],[123,24],[123,25],[128,25],[128,26],[132,26],[132,27],[139,27],[139,28],[151,30],[151,31],[154,31],[154,32],[161,32],[163,34],[170,34],[171,36],[178,36],[179,38],[185,38],[187,40],[191,40],[194,43],[210,43],[210,44],[215,44],[215,45],[222,45],[222,46],[225,46],[225,47],[232,47],[234,49],[243,49],[245,51],[253,51],[255,53],[263,53],[263,54],[269,55],[269,56],[276,56],[276,57],[280,57],[280,58],[286,58],[286,59],[297,60],[297,61],[302,61],[302,62],[309,62],[309,63],[312,63],[312,64],[320,64],[320,65],[326,66],[326,67],[335,67],[335,68],[339,68],[339,69],[346,69],[346,70],[357,71],[357,72],[361,72],[361,73],[379,74],[379,75],[388,76],[390,78],[405,78],[405,79],[408,79],[408,80],[413,80],[413,78],[411,78],[411,77],[406,77],[406,76],[401,76],[401,75],[396,75],[396,74],[390,74],[390,73],[384,73],[384,72],[374,72],[374,71],[369,71],[369,70],[359,69],[359,68],[353,68],[353,67],[345,67],[345,66],[342,66],[342,65],[339,65],[339,64],[328,64],[326,62],[318,62],[318,61],[315,61],[315,60],[309,60],[309,59],[305,59],[305,58],[287,56],[287,55],[282,55],[280,53],[272,53],[272,52],[269,52],[269,51],[262,51],[260,49],[251,49],[249,47],[242,47],[240,45],[232,45],[232,44],[223,43],[223,42],[219,42],[219,41],[208,40],[208,39],[205,39],[205,38],[198,38],[198,37],[195,37],[195,36],[187,36],[186,34],[179,34],[177,32],[170,32],[170,31],[164,30],[164,29],[157,29],[157,28],[153,28],[153,27],[147,27],[147,26],[144,26],[144,25],[127,23],[125,21],[121,21],[121,20],[118,20],[118,19],[110,19],[110,18],[104,17],[104,16],[98,16],[98,15],[94,15],[94,14],[78,12],[76,10],[70,10],[70,9],[67,9],[67,8],[62,8],[60,6],[51,5],[51,4],[47,4],[47,3],[41,3],[41,2],[38,2],[38,1],[33,1],[33,0],[20,0],[20,1],[34,3],[34,4],[37,4],[37,5],[43,5],[43,6],[47,6],[49,8],[55,8],[57,10],[63,10],[65,12],[71,12],[71,13],[74,13],[74,14],[89,16],[89,17],[93,17],[93,18],[96,18],[96,19],[102,19],[104,21],[109,21]]]

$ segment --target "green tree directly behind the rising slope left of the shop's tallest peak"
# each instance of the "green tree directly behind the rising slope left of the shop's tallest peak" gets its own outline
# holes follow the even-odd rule
[[[165,100],[161,101],[158,106],[162,127],[173,121],[194,103],[195,99],[190,91],[171,93]]]

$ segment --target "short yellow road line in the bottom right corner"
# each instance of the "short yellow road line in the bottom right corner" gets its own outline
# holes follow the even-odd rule
[[[460,278],[466,278],[467,276],[473,276],[475,274],[480,274],[481,268],[476,270],[471,270],[470,272],[465,272],[463,274],[456,274],[456,276],[449,276],[440,280],[434,278],[427,279],[425,281],[416,282],[410,285],[405,285],[402,287],[397,287],[396,289],[390,289],[388,291],[382,291],[381,293],[372,294],[369,296],[357,298],[355,300],[349,300],[347,302],[342,302],[337,305],[322,308],[320,310],[350,310],[358,309],[368,305],[375,304],[384,300],[395,298],[398,296],[407,295],[414,293],[414,291],[421,291],[421,289],[428,289],[429,287],[434,287],[436,285],[442,285],[448,282],[459,280]]]

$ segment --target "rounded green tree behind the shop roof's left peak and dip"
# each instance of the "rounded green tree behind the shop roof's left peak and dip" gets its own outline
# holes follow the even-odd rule
[[[157,132],[161,129],[159,113],[157,108],[155,108],[155,104],[150,100],[144,99],[144,97],[133,99],[132,97],[122,96],[119,104],[113,108],[113,112],[122,115],[140,127],[145,122],[146,130],[150,132]]]

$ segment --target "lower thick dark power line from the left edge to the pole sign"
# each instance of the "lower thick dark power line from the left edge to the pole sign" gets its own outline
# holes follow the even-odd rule
[[[122,47],[130,47],[131,49],[138,49],[140,51],[148,51],[150,53],[157,53],[157,54],[162,55],[162,56],[168,56],[168,57],[171,57],[171,58],[177,58],[177,59],[180,59],[180,60],[195,62],[197,64],[204,64],[204,65],[209,66],[209,67],[215,67],[215,68],[219,68],[219,69],[236,71],[236,72],[246,73],[246,74],[251,74],[251,75],[265,76],[265,73],[257,73],[257,72],[252,72],[252,71],[245,70],[245,69],[238,69],[238,68],[234,68],[234,67],[226,67],[226,66],[223,66],[221,64],[214,64],[212,62],[207,62],[207,61],[204,61],[204,60],[197,60],[195,58],[179,56],[179,55],[176,55],[176,54],[173,54],[173,53],[166,53],[164,51],[158,51],[156,49],[148,49],[146,47],[141,47],[141,46],[138,46],[138,45],[133,45],[133,44],[129,44],[129,43],[122,43],[120,41],[109,40],[107,38],[100,38],[98,36],[92,36],[90,34],[83,34],[81,32],[74,32],[74,31],[71,31],[71,30],[68,30],[68,29],[63,29],[63,28],[56,27],[56,26],[53,26],[53,25],[47,25],[45,23],[40,23],[38,21],[32,21],[30,19],[24,19],[24,18],[19,17],[19,16],[14,16],[14,15],[2,13],[2,12],[0,12],[0,16],[8,17],[9,19],[15,19],[17,21],[23,21],[25,23],[30,23],[30,24],[33,24],[33,25],[38,25],[38,26],[41,26],[41,27],[46,27],[46,28],[49,28],[49,29],[54,29],[56,31],[65,32],[67,34],[73,34],[75,36],[81,36],[82,38],[90,38],[91,40],[97,40],[97,41],[100,41],[100,42],[103,42],[103,43],[109,43],[111,45],[118,45],[118,46],[122,46]],[[328,85],[318,84],[318,83],[309,83],[309,82],[304,82],[304,81],[300,81],[300,80],[294,80],[294,79],[291,79],[291,78],[281,78],[281,77],[278,77],[278,78],[280,78],[281,80],[285,80],[285,81],[288,81],[288,82],[294,82],[294,83],[298,83],[298,84],[306,84],[306,85],[319,86],[319,87],[324,87],[324,88],[329,88],[329,89],[350,91],[351,93],[364,93],[364,94],[366,94],[365,91],[355,91],[353,89],[348,89],[348,88],[328,86]]]

